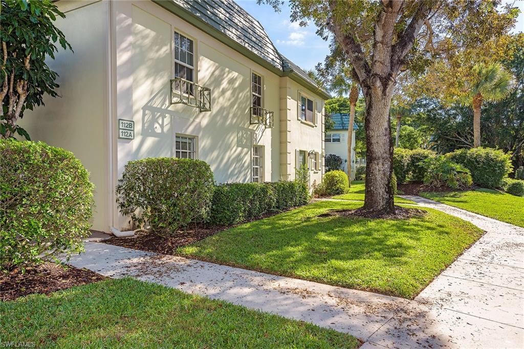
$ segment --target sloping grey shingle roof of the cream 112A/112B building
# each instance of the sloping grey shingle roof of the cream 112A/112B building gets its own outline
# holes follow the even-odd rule
[[[254,53],[263,62],[277,69],[281,76],[290,75],[296,80],[312,86],[313,90],[325,98],[330,98],[329,92],[323,90],[297,64],[283,57],[273,45],[264,27],[252,15],[248,14],[233,0],[154,0],[173,13],[180,15],[180,10],[174,10],[169,3],[175,4],[192,16],[200,19],[206,25],[219,31],[245,49]],[[185,18],[184,18],[185,19]],[[188,20],[188,19],[186,19]],[[200,22],[201,23],[201,22]],[[193,25],[205,30],[202,25]],[[204,25],[205,26],[205,25]]]

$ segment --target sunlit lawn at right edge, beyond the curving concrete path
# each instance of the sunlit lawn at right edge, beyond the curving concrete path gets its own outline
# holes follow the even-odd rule
[[[524,197],[492,189],[420,193],[420,196],[524,227]]]

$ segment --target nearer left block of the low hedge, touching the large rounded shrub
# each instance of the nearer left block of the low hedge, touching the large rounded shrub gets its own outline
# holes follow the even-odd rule
[[[276,195],[267,184],[226,183],[216,186],[209,222],[232,225],[263,216],[274,208]]]

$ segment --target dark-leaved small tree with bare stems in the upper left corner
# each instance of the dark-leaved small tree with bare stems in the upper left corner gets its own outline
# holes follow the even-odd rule
[[[47,66],[47,57],[54,59],[58,42],[63,49],[71,49],[65,36],[53,21],[65,18],[49,0],[2,0],[0,12],[0,138],[15,134],[29,139],[27,132],[17,125],[26,109],[43,105],[43,96],[56,97],[54,82],[58,74]]]

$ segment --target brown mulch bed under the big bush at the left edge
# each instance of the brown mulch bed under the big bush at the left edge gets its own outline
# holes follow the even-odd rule
[[[0,300],[14,300],[31,293],[49,293],[87,285],[106,279],[91,270],[64,267],[55,263],[45,263],[26,269],[24,274],[14,270],[9,274],[0,274]]]

